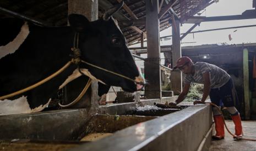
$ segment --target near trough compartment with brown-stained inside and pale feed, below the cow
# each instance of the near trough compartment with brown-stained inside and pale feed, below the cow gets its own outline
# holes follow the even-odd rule
[[[154,118],[99,114],[88,117],[86,109],[6,115],[0,117],[0,143],[6,149],[65,150]]]

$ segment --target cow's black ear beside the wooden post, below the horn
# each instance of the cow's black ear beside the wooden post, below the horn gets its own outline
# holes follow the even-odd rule
[[[90,21],[83,15],[70,14],[68,21],[70,26],[77,32],[84,32],[90,28]]]

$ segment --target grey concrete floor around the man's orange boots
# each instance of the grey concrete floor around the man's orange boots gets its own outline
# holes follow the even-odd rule
[[[228,129],[231,132],[235,132],[235,125],[232,120],[226,120]],[[256,121],[242,121],[243,126],[243,138],[256,139]],[[215,130],[213,132],[215,134]],[[234,141],[233,137],[225,130],[225,139],[220,141],[211,141],[210,151],[236,151],[236,150],[246,150],[252,151],[256,150],[256,142],[253,141]]]

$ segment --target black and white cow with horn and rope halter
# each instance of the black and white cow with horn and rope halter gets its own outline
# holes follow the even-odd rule
[[[6,19],[0,25],[0,96],[24,89],[55,73],[70,61],[75,32],[79,32],[81,59],[123,74],[144,83],[130,54],[126,39],[111,15],[121,5],[108,10],[102,19],[89,22],[83,15],[69,15],[70,27],[40,27]],[[80,65],[81,72],[107,85],[121,86],[125,91],[137,91],[142,85]],[[81,75],[71,65],[57,77],[23,94],[0,101],[0,115],[42,111],[71,80]]]

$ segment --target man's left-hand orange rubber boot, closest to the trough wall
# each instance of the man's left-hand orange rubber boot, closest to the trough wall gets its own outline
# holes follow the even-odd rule
[[[211,138],[213,140],[222,140],[225,137],[224,121],[221,115],[214,116],[216,134]]]

